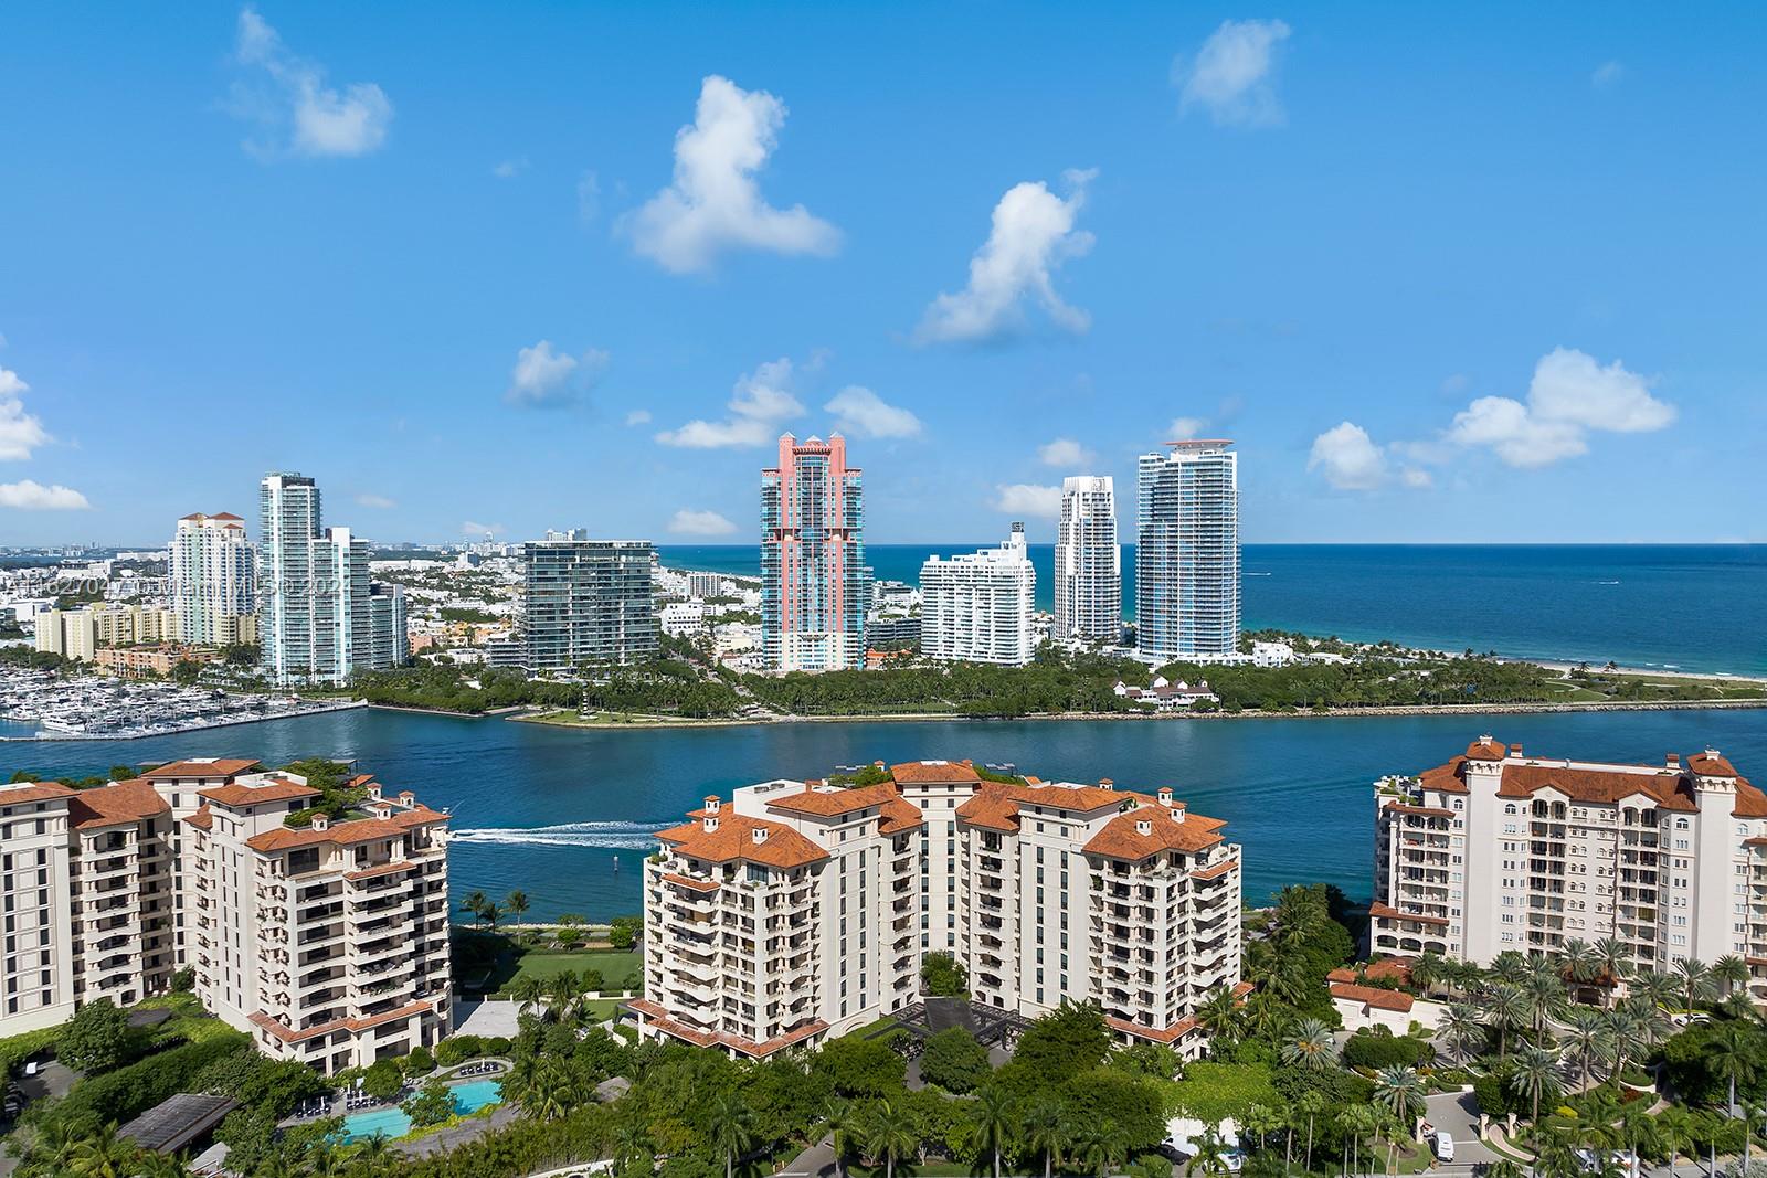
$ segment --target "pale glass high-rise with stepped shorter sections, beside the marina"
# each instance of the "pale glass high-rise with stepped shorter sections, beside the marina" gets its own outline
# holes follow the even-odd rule
[[[258,525],[258,643],[277,683],[346,683],[403,661],[403,595],[369,579],[368,540],[322,526],[313,479],[265,475]]]

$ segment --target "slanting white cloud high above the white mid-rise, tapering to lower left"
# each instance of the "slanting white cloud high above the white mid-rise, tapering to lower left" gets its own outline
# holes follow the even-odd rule
[[[1027,298],[1064,330],[1080,334],[1092,327],[1092,316],[1055,293],[1055,270],[1092,249],[1092,235],[1076,230],[1074,221],[1096,175],[1066,171],[1067,200],[1041,180],[1007,189],[995,205],[988,240],[970,258],[968,286],[938,295],[921,318],[915,339],[977,343],[1009,336],[1025,325]]]

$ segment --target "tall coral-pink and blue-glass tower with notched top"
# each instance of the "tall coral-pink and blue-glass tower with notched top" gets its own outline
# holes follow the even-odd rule
[[[866,664],[864,487],[846,440],[779,438],[762,472],[762,646],[776,671]]]

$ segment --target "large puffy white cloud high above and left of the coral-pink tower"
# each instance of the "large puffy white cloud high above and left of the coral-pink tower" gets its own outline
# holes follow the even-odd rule
[[[832,254],[841,233],[802,205],[774,208],[755,177],[777,145],[785,102],[712,74],[693,125],[675,132],[675,180],[626,223],[633,247],[664,270],[709,268],[726,249]]]

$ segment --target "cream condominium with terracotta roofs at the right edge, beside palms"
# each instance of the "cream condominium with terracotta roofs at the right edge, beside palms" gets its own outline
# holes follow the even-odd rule
[[[1488,964],[1617,938],[1638,970],[1735,954],[1767,996],[1767,795],[1716,751],[1659,765],[1481,736],[1375,789],[1373,947]]]

